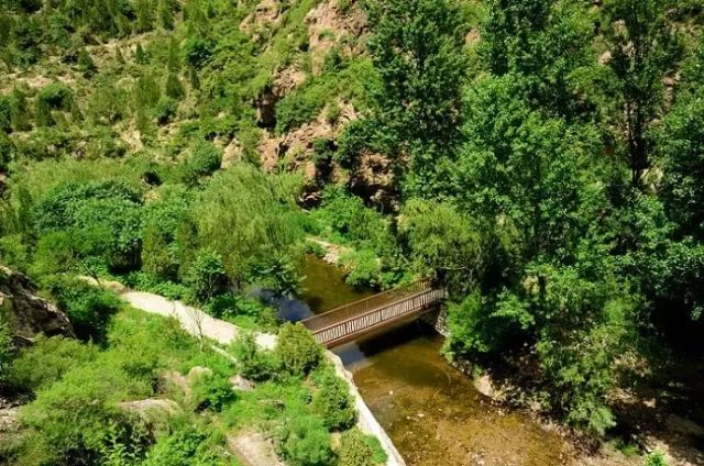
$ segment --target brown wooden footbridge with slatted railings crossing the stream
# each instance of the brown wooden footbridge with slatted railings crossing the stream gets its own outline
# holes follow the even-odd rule
[[[422,315],[436,309],[446,297],[444,288],[431,280],[419,280],[310,317],[302,324],[320,344],[331,348]]]

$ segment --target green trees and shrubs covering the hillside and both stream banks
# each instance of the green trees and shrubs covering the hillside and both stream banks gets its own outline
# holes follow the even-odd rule
[[[704,420],[680,371],[704,354],[703,23],[696,0],[2,2],[0,262],[82,343],[0,336],[32,398],[0,458],[230,464],[254,419],[289,464],[367,464],[324,365],[241,342],[260,384],[220,399],[228,359],[75,280],[277,332],[248,291],[298,293],[310,236],[354,286],[442,280],[447,356],[575,432],[632,428],[616,395],[644,387]],[[186,414],[116,409],[197,365]]]

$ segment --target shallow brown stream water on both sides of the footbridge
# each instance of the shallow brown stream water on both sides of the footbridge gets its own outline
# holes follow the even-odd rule
[[[315,257],[302,299],[315,313],[371,295]],[[409,466],[557,466],[570,447],[529,417],[492,403],[440,355],[442,337],[413,323],[340,346],[345,367]]]

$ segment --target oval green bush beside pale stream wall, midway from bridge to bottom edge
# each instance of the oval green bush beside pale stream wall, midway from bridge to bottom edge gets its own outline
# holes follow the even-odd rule
[[[340,379],[331,367],[315,374],[318,390],[314,395],[312,408],[322,418],[326,428],[343,431],[354,425],[356,411],[348,385]]]

